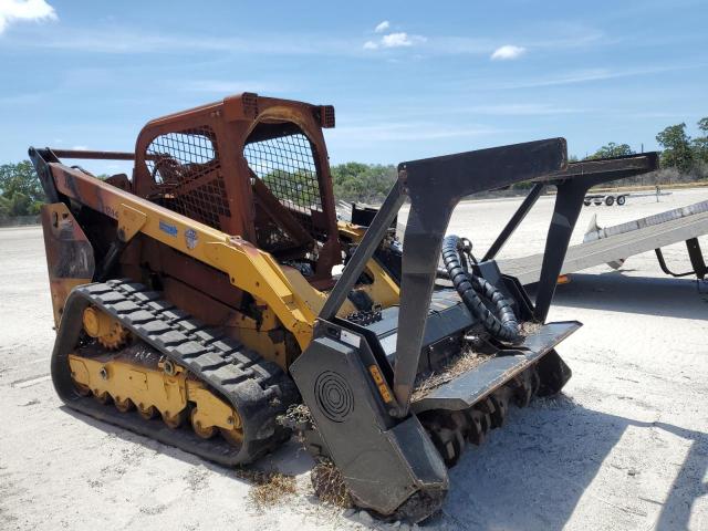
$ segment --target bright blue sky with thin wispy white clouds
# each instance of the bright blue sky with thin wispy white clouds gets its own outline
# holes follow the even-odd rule
[[[148,119],[243,91],[334,104],[333,164],[552,136],[649,150],[708,115],[707,22],[695,0],[0,0],[0,164],[133,150]]]

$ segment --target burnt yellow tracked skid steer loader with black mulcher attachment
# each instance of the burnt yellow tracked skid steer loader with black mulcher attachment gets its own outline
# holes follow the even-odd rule
[[[558,196],[533,304],[445,235],[462,197],[562,174],[564,139],[403,163],[379,209],[341,221],[333,126],[331,106],[244,93],[149,122],[134,154],[30,148],[52,378],[70,407],[226,466],[296,429],[357,507],[418,522],[468,441],[571,376],[554,348],[580,323],[545,317],[582,195]]]

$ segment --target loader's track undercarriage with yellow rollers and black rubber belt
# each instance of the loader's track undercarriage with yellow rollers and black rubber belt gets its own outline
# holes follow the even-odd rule
[[[110,351],[86,341],[81,316],[90,308],[117,320],[135,342]],[[71,407],[228,466],[251,462],[289,437],[277,417],[298,399],[292,381],[158,293],[112,280],[75,289],[66,310],[52,378]],[[212,438],[217,429],[221,437]]]

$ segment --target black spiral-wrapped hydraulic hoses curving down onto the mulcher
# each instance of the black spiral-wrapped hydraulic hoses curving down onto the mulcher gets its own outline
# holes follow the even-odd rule
[[[467,309],[492,336],[501,341],[518,341],[520,327],[511,303],[496,285],[468,270],[467,260],[460,253],[464,247],[462,239],[457,236],[442,240],[442,261],[452,285]],[[489,310],[481,298],[490,301],[496,312]]]

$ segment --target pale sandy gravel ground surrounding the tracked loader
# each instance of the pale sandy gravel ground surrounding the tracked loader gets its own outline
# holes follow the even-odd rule
[[[612,225],[704,199],[708,190],[585,208],[574,241],[592,212]],[[450,231],[483,249],[518,202],[464,204]],[[550,209],[542,199],[502,256],[538,251]],[[680,246],[666,256],[688,267]],[[468,448],[444,514],[426,528],[708,529],[700,288],[665,278],[652,253],[560,287],[550,319],[585,323],[559,348],[572,381]],[[0,529],[394,529],[313,499],[310,460],[294,445],[260,466],[298,475],[298,494],[259,508],[233,471],[70,412],[49,378],[53,335],[41,231],[0,229]]]

